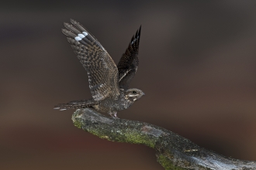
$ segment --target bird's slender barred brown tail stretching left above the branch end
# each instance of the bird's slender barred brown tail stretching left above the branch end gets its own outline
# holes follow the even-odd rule
[[[86,107],[93,107],[96,104],[98,103],[93,99],[74,100],[74,101],[68,102],[67,104],[58,104],[57,106],[54,106],[54,109],[58,109],[58,110],[81,109]]]

